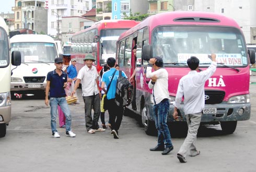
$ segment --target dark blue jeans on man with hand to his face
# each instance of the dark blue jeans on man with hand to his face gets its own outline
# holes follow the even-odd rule
[[[172,146],[171,135],[167,126],[167,115],[169,112],[169,101],[168,99],[154,105],[154,118],[156,129],[158,131],[158,141],[157,145],[167,148]]]

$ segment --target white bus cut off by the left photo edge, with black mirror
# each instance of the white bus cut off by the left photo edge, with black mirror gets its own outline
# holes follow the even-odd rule
[[[9,29],[0,17],[0,137],[5,137],[6,125],[10,122],[11,95],[10,76],[11,63],[20,65],[20,53],[13,52],[10,56]]]

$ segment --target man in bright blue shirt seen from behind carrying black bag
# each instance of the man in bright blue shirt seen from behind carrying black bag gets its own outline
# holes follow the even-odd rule
[[[103,89],[104,92],[106,92],[104,88],[104,84],[106,83],[106,86],[108,88],[108,85],[110,84],[111,78],[113,73],[115,72],[115,59],[113,57],[109,57],[107,59],[107,64],[110,67],[110,70],[106,71],[102,75],[102,83],[101,83],[101,89]],[[122,71],[122,76],[127,78],[125,73]],[[117,90],[117,81],[119,77],[119,72],[115,72],[113,80],[110,84],[109,91],[107,93],[107,99],[110,100],[109,103],[109,120],[111,124],[111,134],[113,134],[115,139],[119,139],[118,136],[118,130],[120,128],[122,119],[123,119],[123,107],[118,106],[115,103],[115,91]],[[115,120],[117,118],[117,120]]]

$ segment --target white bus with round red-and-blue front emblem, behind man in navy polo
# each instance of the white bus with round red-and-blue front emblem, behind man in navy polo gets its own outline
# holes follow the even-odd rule
[[[21,53],[21,65],[11,76],[12,96],[13,93],[21,97],[44,92],[47,73],[54,70],[54,59],[59,57],[54,40],[42,34],[15,35],[10,44],[11,52]]]

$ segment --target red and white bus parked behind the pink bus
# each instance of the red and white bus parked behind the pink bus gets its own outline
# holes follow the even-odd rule
[[[116,43],[121,33],[135,26],[134,20],[101,20],[90,28],[76,32],[72,36],[71,59],[76,58],[79,71],[85,64],[87,54],[95,58],[94,65],[99,71],[109,57],[115,57]]]

